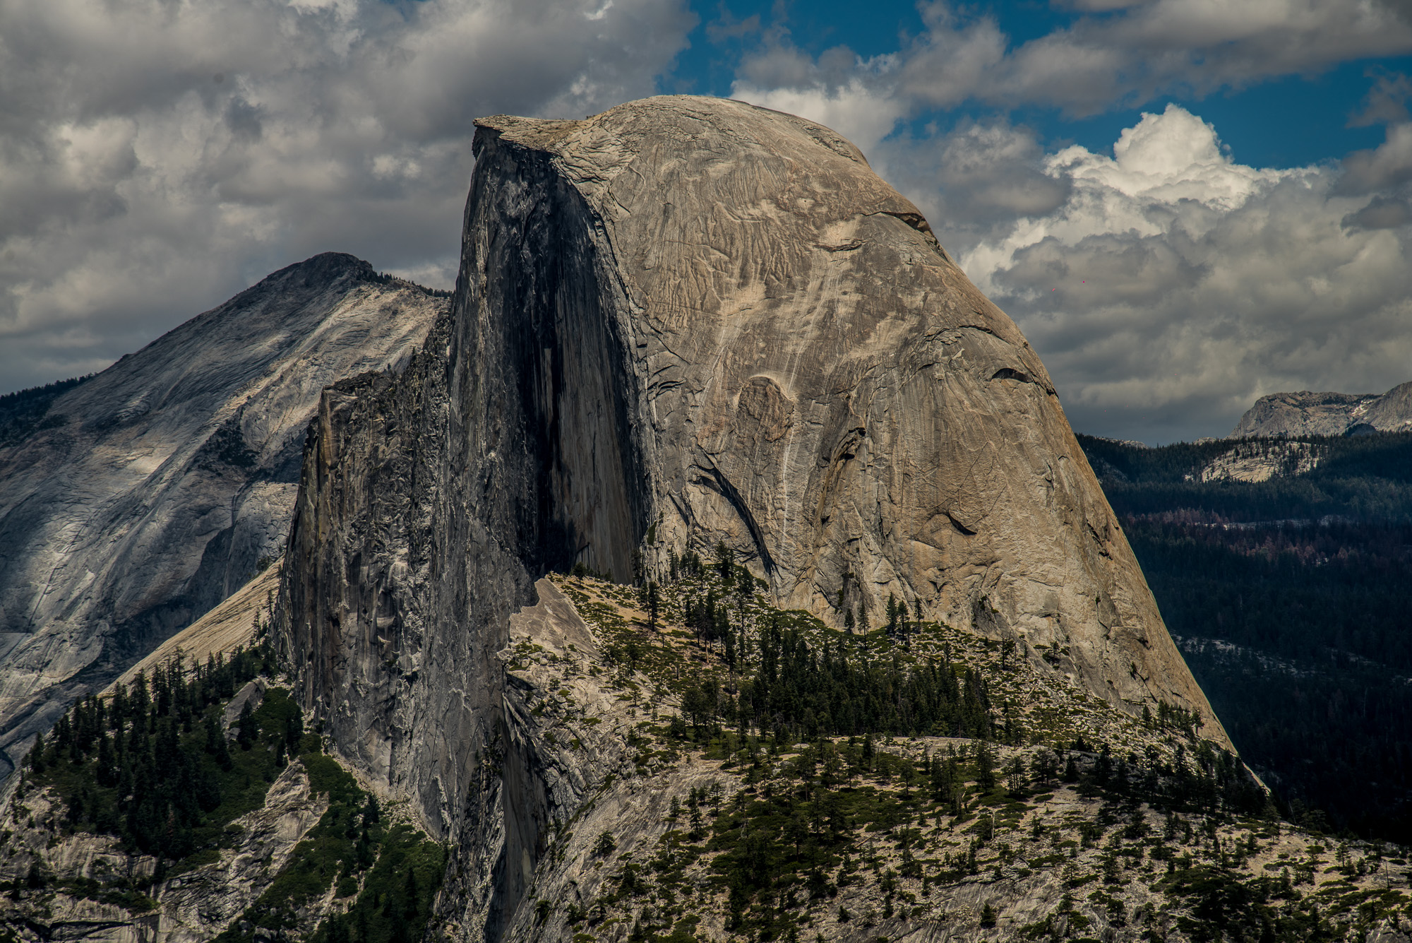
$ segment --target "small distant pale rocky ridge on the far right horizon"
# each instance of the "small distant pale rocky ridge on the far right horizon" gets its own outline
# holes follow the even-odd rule
[[[1272,392],[1255,401],[1230,438],[1357,435],[1412,429],[1412,383],[1382,395],[1351,392]]]

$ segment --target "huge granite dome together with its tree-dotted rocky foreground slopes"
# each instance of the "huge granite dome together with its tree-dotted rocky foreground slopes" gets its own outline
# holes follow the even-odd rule
[[[474,150],[449,309],[168,651],[253,647],[7,783],[0,936],[1405,943],[1406,858],[1278,822],[1165,628],[1093,467],[1166,452],[1091,467],[857,148],[661,96]]]

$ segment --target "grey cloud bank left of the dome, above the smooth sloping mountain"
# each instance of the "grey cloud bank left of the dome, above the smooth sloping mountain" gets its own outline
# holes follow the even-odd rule
[[[0,0],[0,377],[337,248],[449,287],[472,120],[650,95],[676,0]]]

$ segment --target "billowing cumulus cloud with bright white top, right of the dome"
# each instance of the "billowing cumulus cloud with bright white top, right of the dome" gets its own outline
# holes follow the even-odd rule
[[[1247,167],[1178,106],[1123,131],[1113,157],[1042,161],[1067,186],[994,224],[960,264],[1021,325],[1083,428],[1220,435],[1278,390],[1382,391],[1412,377],[1406,217],[1333,165]],[[1374,213],[1377,216],[1377,213]]]

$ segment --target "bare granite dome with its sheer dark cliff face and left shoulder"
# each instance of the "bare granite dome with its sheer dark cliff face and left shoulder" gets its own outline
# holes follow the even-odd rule
[[[575,563],[724,542],[781,608],[892,597],[1227,743],[1039,359],[853,145],[696,97],[479,126],[449,318],[321,402],[278,642],[342,755],[452,841],[459,939],[524,913],[541,823],[576,815],[515,772],[496,658]]]

